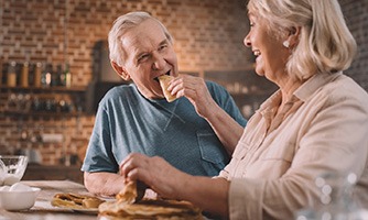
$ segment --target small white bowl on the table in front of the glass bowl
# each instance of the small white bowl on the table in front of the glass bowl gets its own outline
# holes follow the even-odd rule
[[[8,211],[26,210],[34,206],[40,188],[32,187],[31,191],[0,191],[0,208]]]

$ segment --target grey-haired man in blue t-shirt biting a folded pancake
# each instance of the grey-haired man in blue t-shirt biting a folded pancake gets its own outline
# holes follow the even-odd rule
[[[161,156],[176,168],[215,176],[229,162],[247,121],[229,94],[199,77],[178,76],[172,36],[145,12],[119,16],[109,33],[111,65],[134,84],[109,90],[99,103],[82,170],[95,194],[125,185],[119,164],[132,152]],[[167,102],[158,77],[169,75]]]

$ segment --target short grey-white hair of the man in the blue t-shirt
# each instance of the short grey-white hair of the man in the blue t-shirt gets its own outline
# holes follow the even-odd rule
[[[123,34],[126,34],[127,31],[134,26],[138,26],[140,23],[148,19],[156,21],[162,28],[162,31],[164,32],[169,42],[173,43],[172,35],[158,19],[151,16],[148,12],[144,11],[129,12],[115,20],[113,25],[109,32],[108,43],[110,61],[116,62],[119,66],[122,66],[127,55],[125,53],[125,50],[122,48],[121,37],[123,37]]]

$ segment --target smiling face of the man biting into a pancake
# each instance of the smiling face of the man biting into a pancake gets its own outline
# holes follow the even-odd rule
[[[121,44],[127,54],[122,68],[139,91],[148,99],[163,98],[155,78],[165,74],[177,76],[178,73],[176,54],[160,24],[145,20],[129,30]]]

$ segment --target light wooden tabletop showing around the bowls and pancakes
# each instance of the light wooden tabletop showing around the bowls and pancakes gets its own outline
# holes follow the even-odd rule
[[[25,211],[7,211],[0,209],[0,220],[90,220],[98,219],[97,213],[76,212],[51,205],[57,193],[88,194],[82,185],[69,180],[24,180],[25,185],[41,188],[34,206]],[[21,198],[20,198],[21,199]]]

